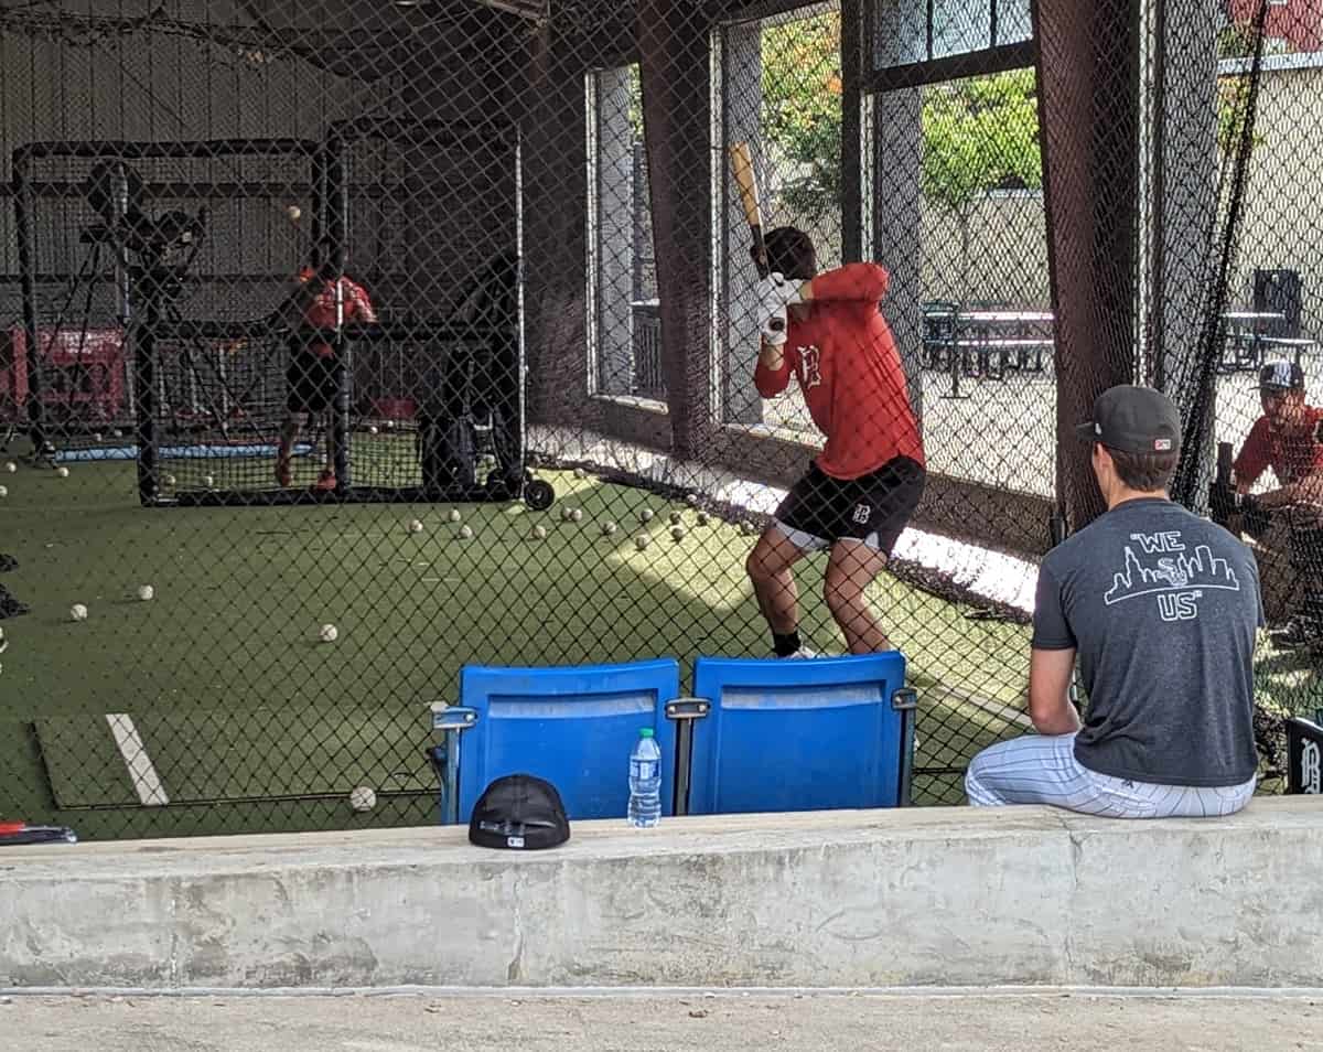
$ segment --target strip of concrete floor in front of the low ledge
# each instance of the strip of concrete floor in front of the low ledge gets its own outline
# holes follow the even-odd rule
[[[12,996],[25,1052],[1323,1049],[1304,995]]]

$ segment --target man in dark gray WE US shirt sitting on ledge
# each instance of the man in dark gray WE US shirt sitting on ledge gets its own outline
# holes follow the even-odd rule
[[[1254,794],[1258,568],[1226,529],[1167,496],[1180,414],[1111,388],[1078,426],[1106,513],[1039,570],[1029,656],[1036,736],[970,762],[970,803],[1117,818],[1226,815]],[[1070,704],[1076,654],[1089,704]]]

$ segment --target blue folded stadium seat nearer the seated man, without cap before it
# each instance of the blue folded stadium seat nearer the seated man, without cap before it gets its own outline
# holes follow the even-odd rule
[[[681,814],[909,803],[914,692],[898,651],[699,658],[693,688],[706,715],[681,741]]]

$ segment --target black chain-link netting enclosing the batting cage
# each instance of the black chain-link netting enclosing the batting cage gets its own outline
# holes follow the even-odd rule
[[[1304,0],[0,0],[0,818],[426,822],[466,664],[881,647],[958,803],[1130,381],[1254,545],[1274,787],[1319,114]]]

